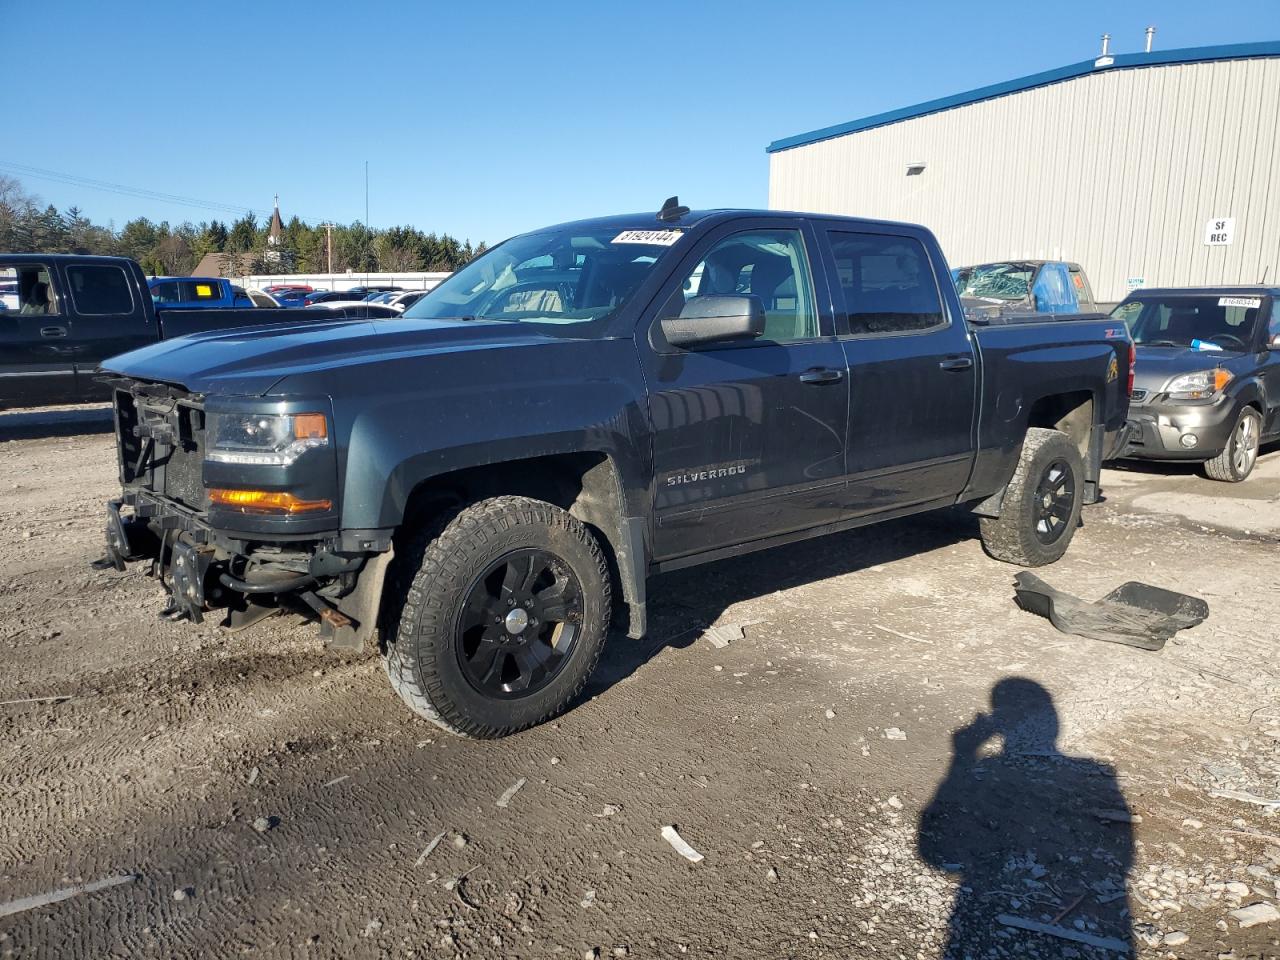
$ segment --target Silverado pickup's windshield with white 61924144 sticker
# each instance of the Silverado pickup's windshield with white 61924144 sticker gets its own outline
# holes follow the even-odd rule
[[[527,233],[467,264],[403,316],[530,324],[607,320],[678,237],[678,230]]]

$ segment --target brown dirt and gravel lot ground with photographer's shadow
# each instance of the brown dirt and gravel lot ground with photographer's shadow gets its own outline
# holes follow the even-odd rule
[[[301,621],[91,570],[95,424],[0,419],[3,956],[1280,955],[1280,453],[1108,471],[1042,571],[1204,598],[1160,653],[929,516],[662,577],[582,703],[470,742]]]

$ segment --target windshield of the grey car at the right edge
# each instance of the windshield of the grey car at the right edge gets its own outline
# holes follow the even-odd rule
[[[1215,296],[1126,300],[1111,316],[1129,325],[1138,344],[1247,351],[1253,344],[1262,301]]]

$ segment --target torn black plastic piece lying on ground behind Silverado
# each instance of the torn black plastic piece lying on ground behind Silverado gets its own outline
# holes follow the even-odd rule
[[[1160,650],[1179,630],[1202,623],[1208,604],[1197,596],[1130,580],[1089,603],[1055,590],[1033,573],[1014,577],[1018,605],[1046,617],[1064,634]]]

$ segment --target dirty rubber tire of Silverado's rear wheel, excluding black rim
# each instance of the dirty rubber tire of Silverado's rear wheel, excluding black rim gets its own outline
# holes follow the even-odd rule
[[[1073,472],[1074,502],[1065,529],[1053,543],[1043,543],[1036,534],[1037,486],[1050,466],[1057,462]],[[1079,448],[1061,430],[1029,428],[1018,468],[1005,490],[1000,516],[982,517],[982,545],[989,556],[1006,563],[1023,567],[1052,563],[1066,553],[1075,527],[1080,524],[1083,504],[1084,460]]]

